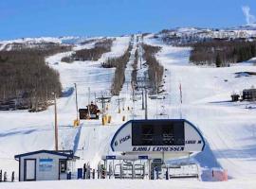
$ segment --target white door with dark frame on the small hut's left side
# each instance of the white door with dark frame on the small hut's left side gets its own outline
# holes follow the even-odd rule
[[[36,180],[36,160],[35,159],[25,160],[24,172],[25,172],[24,173],[25,181]]]

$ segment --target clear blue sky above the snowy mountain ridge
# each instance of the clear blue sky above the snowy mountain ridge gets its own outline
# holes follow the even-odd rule
[[[241,26],[242,6],[256,14],[255,0],[0,0],[0,40]]]

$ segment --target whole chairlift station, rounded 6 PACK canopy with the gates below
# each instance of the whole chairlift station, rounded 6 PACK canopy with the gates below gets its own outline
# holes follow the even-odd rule
[[[181,168],[181,165],[174,167],[168,161],[189,159],[204,147],[205,140],[199,129],[185,119],[131,120],[117,130],[111,141],[115,155],[102,156],[102,160],[109,175],[119,179],[144,179],[147,175],[154,179],[155,171],[155,178],[160,172],[166,179],[198,178],[197,164],[186,164],[193,170],[177,176],[172,175],[171,168]]]

